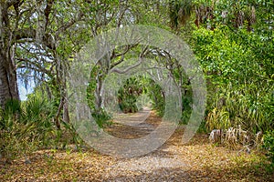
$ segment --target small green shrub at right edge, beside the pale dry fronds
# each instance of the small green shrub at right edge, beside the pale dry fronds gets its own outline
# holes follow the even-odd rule
[[[269,160],[272,162],[274,167],[274,130],[267,132],[264,136],[263,148],[267,150],[267,156]]]

